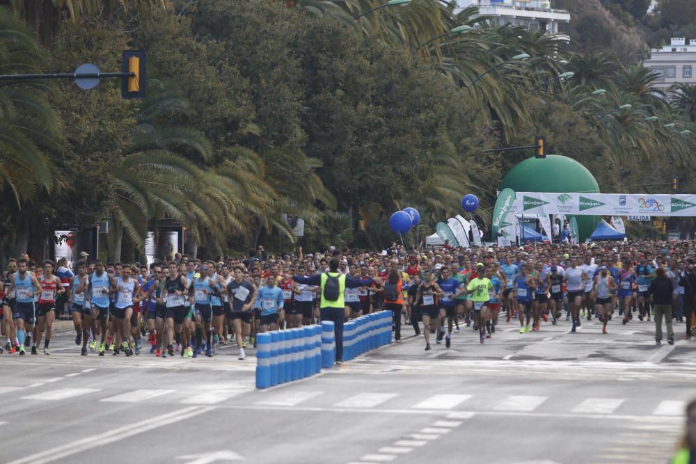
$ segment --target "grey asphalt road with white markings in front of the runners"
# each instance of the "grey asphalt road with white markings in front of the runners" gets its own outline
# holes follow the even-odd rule
[[[666,463],[696,396],[696,342],[653,326],[500,323],[479,344],[421,337],[254,388],[255,358],[0,355],[2,463]],[[679,328],[681,333],[682,328]],[[253,353],[253,351],[251,351]]]

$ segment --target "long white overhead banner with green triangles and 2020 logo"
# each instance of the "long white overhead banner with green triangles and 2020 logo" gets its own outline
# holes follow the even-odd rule
[[[696,216],[696,195],[517,192],[511,214]]]

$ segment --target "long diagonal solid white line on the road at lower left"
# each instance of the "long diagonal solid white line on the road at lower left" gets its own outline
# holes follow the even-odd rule
[[[189,408],[176,410],[171,413],[150,417],[149,419],[142,420],[141,422],[129,423],[125,426],[118,427],[118,429],[111,429],[110,431],[100,433],[98,435],[91,435],[89,437],[75,440],[74,442],[65,443],[65,445],[60,445],[31,454],[29,456],[24,456],[23,458],[10,461],[6,464],[51,463],[68,456],[72,456],[73,454],[83,453],[88,449],[109,445],[109,443],[118,442],[119,440],[132,437],[133,435],[139,435],[146,431],[159,429],[159,427],[162,426],[174,424],[175,422],[181,422],[189,417],[207,413],[211,410],[214,410],[214,408],[198,408],[196,406],[191,406]]]

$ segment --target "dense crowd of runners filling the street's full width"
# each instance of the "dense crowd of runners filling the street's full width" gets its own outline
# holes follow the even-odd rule
[[[0,285],[0,353],[49,355],[53,323],[70,314],[81,355],[106,352],[166,358],[214,355],[235,343],[239,359],[255,334],[317,323],[321,288],[301,282],[338,266],[363,287],[343,291],[345,321],[379,310],[422,333],[425,349],[452,343],[461,326],[480,343],[501,319],[519,321],[519,333],[566,323],[576,332],[597,318],[601,332],[617,323],[655,321],[656,344],[674,343],[673,321],[692,334],[696,242],[537,244],[498,248],[429,248],[367,253],[329,248],[323,253],[200,260],[176,255],[150,266],[105,264],[87,253],[67,261],[9,259]],[[332,263],[333,260],[333,263]],[[333,264],[333,266],[332,266]],[[314,279],[316,281],[316,279]],[[342,303],[343,304],[343,303]]]

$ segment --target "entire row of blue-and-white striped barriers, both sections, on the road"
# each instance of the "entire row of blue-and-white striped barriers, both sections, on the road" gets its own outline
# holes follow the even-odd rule
[[[343,361],[388,345],[392,341],[392,312],[380,311],[343,326]],[[275,330],[256,336],[256,387],[274,387],[319,374],[336,359],[334,324]]]

